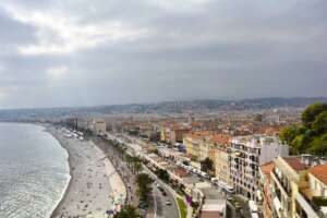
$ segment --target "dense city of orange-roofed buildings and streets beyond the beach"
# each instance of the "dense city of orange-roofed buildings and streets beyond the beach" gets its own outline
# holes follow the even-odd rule
[[[327,216],[325,104],[161,114],[88,110],[28,122],[51,123],[61,141],[93,141],[110,157],[124,194],[107,216]],[[322,141],[311,140],[311,149],[302,133],[319,133]],[[64,211],[57,215],[70,217]]]

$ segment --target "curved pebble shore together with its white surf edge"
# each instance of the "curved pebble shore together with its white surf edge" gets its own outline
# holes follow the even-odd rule
[[[39,126],[43,129],[43,132],[53,137],[66,154],[66,183],[62,189],[60,197],[53,201],[53,205],[45,215],[46,218],[106,218],[107,209],[120,209],[125,204],[128,199],[126,184],[101,145],[93,141],[66,138],[61,130],[57,130],[52,124],[48,123],[3,121],[0,121],[0,123]],[[85,156],[85,154],[88,155],[88,153],[90,157]],[[85,173],[84,175],[76,174],[76,171],[81,171],[81,168],[83,169],[82,173]],[[98,174],[93,173],[90,177],[88,168],[92,168],[92,170]],[[86,177],[86,173],[88,177]],[[85,184],[88,183],[93,183],[92,189],[85,186]],[[101,184],[101,186],[97,189],[97,184]],[[76,190],[76,187],[78,190]],[[89,192],[87,196],[90,196],[87,198],[85,193],[82,195],[80,192],[76,192],[81,190],[82,192]],[[80,204],[83,201],[88,206],[86,211],[84,211],[85,208],[81,207]]]

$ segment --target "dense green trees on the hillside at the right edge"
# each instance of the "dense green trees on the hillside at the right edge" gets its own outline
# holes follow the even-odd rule
[[[302,113],[302,123],[280,132],[280,140],[291,146],[291,153],[327,156],[327,104],[308,106]]]

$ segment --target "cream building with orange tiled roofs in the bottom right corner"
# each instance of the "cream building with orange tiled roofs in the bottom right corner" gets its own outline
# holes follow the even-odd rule
[[[278,157],[274,162],[272,217],[327,217],[327,165],[312,167],[303,157]]]

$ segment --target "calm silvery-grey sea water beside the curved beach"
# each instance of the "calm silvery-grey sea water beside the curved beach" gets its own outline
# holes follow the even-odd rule
[[[47,218],[69,181],[68,154],[44,128],[0,123],[0,218]]]

